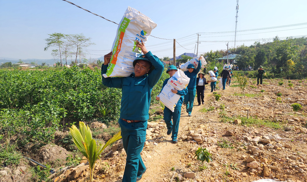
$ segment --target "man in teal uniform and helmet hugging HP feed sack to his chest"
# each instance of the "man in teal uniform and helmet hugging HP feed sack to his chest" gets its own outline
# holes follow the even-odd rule
[[[177,72],[177,68],[174,65],[171,65],[167,68],[166,73],[169,74],[169,78],[171,78],[175,73]],[[163,87],[167,84],[169,81],[169,78],[165,79],[163,82]],[[161,91],[162,91],[161,89]],[[160,93],[161,93],[160,91]],[[173,143],[177,143],[177,136],[178,136],[178,130],[179,130],[179,121],[180,121],[180,115],[181,115],[181,105],[183,103],[183,96],[188,93],[188,88],[185,88],[183,90],[176,90],[176,89],[171,89],[172,93],[181,95],[180,99],[177,102],[176,107],[174,108],[174,112],[169,110],[169,108],[164,107],[164,121],[166,123],[167,127],[167,135],[172,134],[172,141]],[[160,100],[160,97],[156,97],[156,100]],[[172,123],[172,117],[173,117],[173,123]]]

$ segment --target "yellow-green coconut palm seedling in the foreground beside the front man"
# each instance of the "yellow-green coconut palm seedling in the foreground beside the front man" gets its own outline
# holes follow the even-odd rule
[[[90,167],[90,182],[93,181],[94,168],[97,159],[99,159],[100,154],[103,150],[109,146],[111,143],[122,138],[121,132],[118,132],[106,144],[100,145],[99,148],[96,146],[95,139],[92,138],[92,133],[90,127],[85,125],[83,122],[79,122],[80,131],[75,125],[72,125],[70,134],[72,135],[72,140],[76,144],[80,152],[86,157],[89,167]]]

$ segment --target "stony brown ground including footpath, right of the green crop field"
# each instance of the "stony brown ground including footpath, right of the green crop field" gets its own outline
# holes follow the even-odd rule
[[[280,80],[264,80],[255,85],[249,80],[242,90],[233,82],[221,94],[219,101],[205,90],[205,104],[195,105],[192,117],[182,107],[179,141],[171,142],[166,135],[164,121],[148,122],[146,142],[141,153],[147,171],[141,182],[180,180],[254,181],[263,178],[277,181],[307,182],[307,81],[291,80],[293,88]],[[282,93],[282,96],[277,96]],[[280,94],[278,94],[280,95]],[[303,106],[293,112],[291,104]],[[222,107],[221,107],[222,104]],[[223,110],[224,105],[224,110]],[[249,119],[247,119],[247,113]],[[196,160],[195,151],[205,147],[212,154],[212,162]],[[120,182],[125,168],[126,154],[121,141],[112,146],[95,168],[95,181]],[[84,164],[85,163],[85,164]],[[89,176],[86,161],[75,167],[64,167],[50,179],[85,181]]]

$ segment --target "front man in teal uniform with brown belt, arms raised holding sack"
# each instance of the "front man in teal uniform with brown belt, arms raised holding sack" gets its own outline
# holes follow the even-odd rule
[[[159,81],[164,66],[159,58],[146,50],[143,41],[137,47],[144,55],[133,61],[134,73],[129,77],[104,78],[103,85],[122,89],[120,118],[122,144],[127,154],[122,182],[135,182],[142,178],[146,167],[140,155],[146,141],[147,120],[149,119],[150,95],[153,86]],[[101,74],[107,72],[112,52],[104,56]]]

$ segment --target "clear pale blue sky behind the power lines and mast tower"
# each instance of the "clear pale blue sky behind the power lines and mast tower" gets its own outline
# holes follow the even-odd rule
[[[119,22],[128,6],[133,7],[150,17],[157,27],[153,36],[166,39],[179,39],[180,44],[188,49],[177,48],[176,56],[184,52],[194,52],[192,44],[197,40],[197,32],[224,32],[235,30],[236,0],[220,1],[101,1],[70,0],[71,2],[99,14],[107,19]],[[237,30],[265,28],[280,25],[306,23],[306,0],[239,0]],[[77,8],[62,0],[0,0],[0,57],[15,59],[52,59],[51,49],[44,51],[48,34],[59,32],[64,34],[83,33],[91,37],[96,45],[90,50],[111,50],[116,35],[117,25]],[[237,32],[237,40],[274,38],[275,36],[307,35],[307,25],[286,28],[275,28],[260,31]],[[296,30],[287,30],[301,28]],[[279,31],[287,30],[287,31]],[[269,32],[279,31],[279,32]],[[268,33],[259,33],[268,32]],[[241,35],[248,33],[259,33]],[[224,37],[208,37],[224,36]],[[200,40],[234,40],[234,33],[201,35]],[[168,42],[150,37],[147,46]],[[261,41],[262,42],[262,41]],[[236,45],[250,45],[250,42],[237,42]],[[160,47],[163,46],[163,47]],[[229,43],[234,46],[233,42]],[[158,57],[173,57],[172,43],[148,47]],[[202,42],[199,54],[210,50],[226,49],[225,42]],[[156,52],[155,52],[156,51]],[[98,58],[108,51],[91,51],[87,58]],[[96,55],[94,55],[96,54]]]

